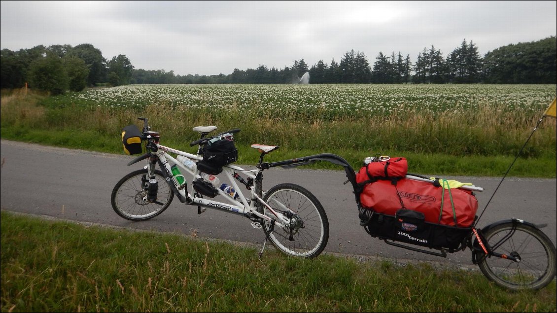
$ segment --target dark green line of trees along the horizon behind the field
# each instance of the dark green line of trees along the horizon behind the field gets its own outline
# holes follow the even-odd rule
[[[300,58],[284,69],[259,65],[210,76],[135,69],[125,55],[105,59],[90,43],[3,49],[0,62],[1,88],[27,83],[53,94],[128,84],[296,84],[306,72],[312,84],[557,84],[555,36],[502,46],[484,56],[464,39],[447,56],[433,45],[424,47],[415,61],[394,51],[379,52],[370,61],[363,52],[350,50],[338,62],[332,58],[310,66]]]

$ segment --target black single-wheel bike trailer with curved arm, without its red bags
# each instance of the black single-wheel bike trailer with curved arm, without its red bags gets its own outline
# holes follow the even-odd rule
[[[388,159],[388,157],[379,157],[375,159],[375,162]],[[555,278],[555,245],[541,231],[541,228],[547,224],[533,224],[522,219],[511,218],[479,228],[476,227],[479,219],[477,216],[473,216],[473,223],[470,227],[429,223],[424,222],[423,219],[421,221],[411,219],[408,222],[408,219],[405,219],[407,217],[403,217],[402,214],[397,216],[398,211],[394,215],[385,214],[375,212],[374,208],[363,206],[361,194],[365,187],[356,180],[356,173],[351,165],[338,155],[310,155],[286,160],[282,164],[288,164],[292,168],[316,161],[331,162],[344,167],[348,178],[344,184],[351,183],[354,189],[360,226],[363,226],[364,230],[374,238],[383,240],[392,246],[440,257],[447,257],[447,253],[465,251],[468,248],[472,252],[472,263],[480,267],[483,275],[488,280],[510,290],[538,290],[547,286]],[[425,184],[436,183],[436,179],[416,174],[405,174],[404,178]],[[393,183],[387,181],[385,184],[392,185]],[[373,186],[373,183],[370,186]],[[460,188],[468,190],[472,196],[473,191],[483,191],[483,188],[473,185],[463,185]],[[398,194],[398,198],[395,198],[395,202],[400,200],[402,203],[402,190],[397,189],[396,194]],[[404,196],[414,199],[418,197],[416,194],[404,194]],[[443,213],[442,208],[441,213]],[[473,213],[475,214],[475,212]],[[424,248],[429,248],[429,250]]]

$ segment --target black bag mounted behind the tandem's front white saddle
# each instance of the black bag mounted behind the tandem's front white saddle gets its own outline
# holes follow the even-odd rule
[[[199,162],[198,168],[201,166],[199,170],[213,175],[221,173],[221,167],[238,159],[238,149],[234,145],[232,134],[224,134],[207,141],[202,147],[202,153],[203,160]]]

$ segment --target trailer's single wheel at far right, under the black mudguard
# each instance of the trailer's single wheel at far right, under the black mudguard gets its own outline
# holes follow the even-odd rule
[[[538,228],[508,222],[487,229],[483,236],[494,252],[519,260],[488,256],[478,263],[483,275],[497,285],[511,290],[537,290],[555,277],[555,246]],[[476,252],[476,260],[483,256]]]

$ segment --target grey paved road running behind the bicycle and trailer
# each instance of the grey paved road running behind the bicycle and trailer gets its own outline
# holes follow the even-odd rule
[[[121,177],[143,166],[127,167],[131,156],[7,140],[1,140],[0,148],[0,206],[7,211],[183,234],[197,230],[201,237],[234,241],[263,241],[263,232],[253,229],[246,218],[211,209],[199,216],[197,207],[185,206],[177,199],[167,211],[149,221],[131,222],[120,218],[111,208],[110,194]],[[269,160],[273,160],[272,153]],[[485,192],[477,194],[480,210],[500,182],[500,178],[448,178],[486,188]],[[359,226],[354,196],[350,185],[343,185],[345,180],[342,170],[270,169],[265,172],[263,188],[292,182],[314,193],[325,207],[330,222],[327,252],[471,265],[469,251],[441,258],[390,247],[370,237]],[[555,179],[505,179],[479,226],[511,217],[548,223],[543,231],[555,243],[556,185]]]

